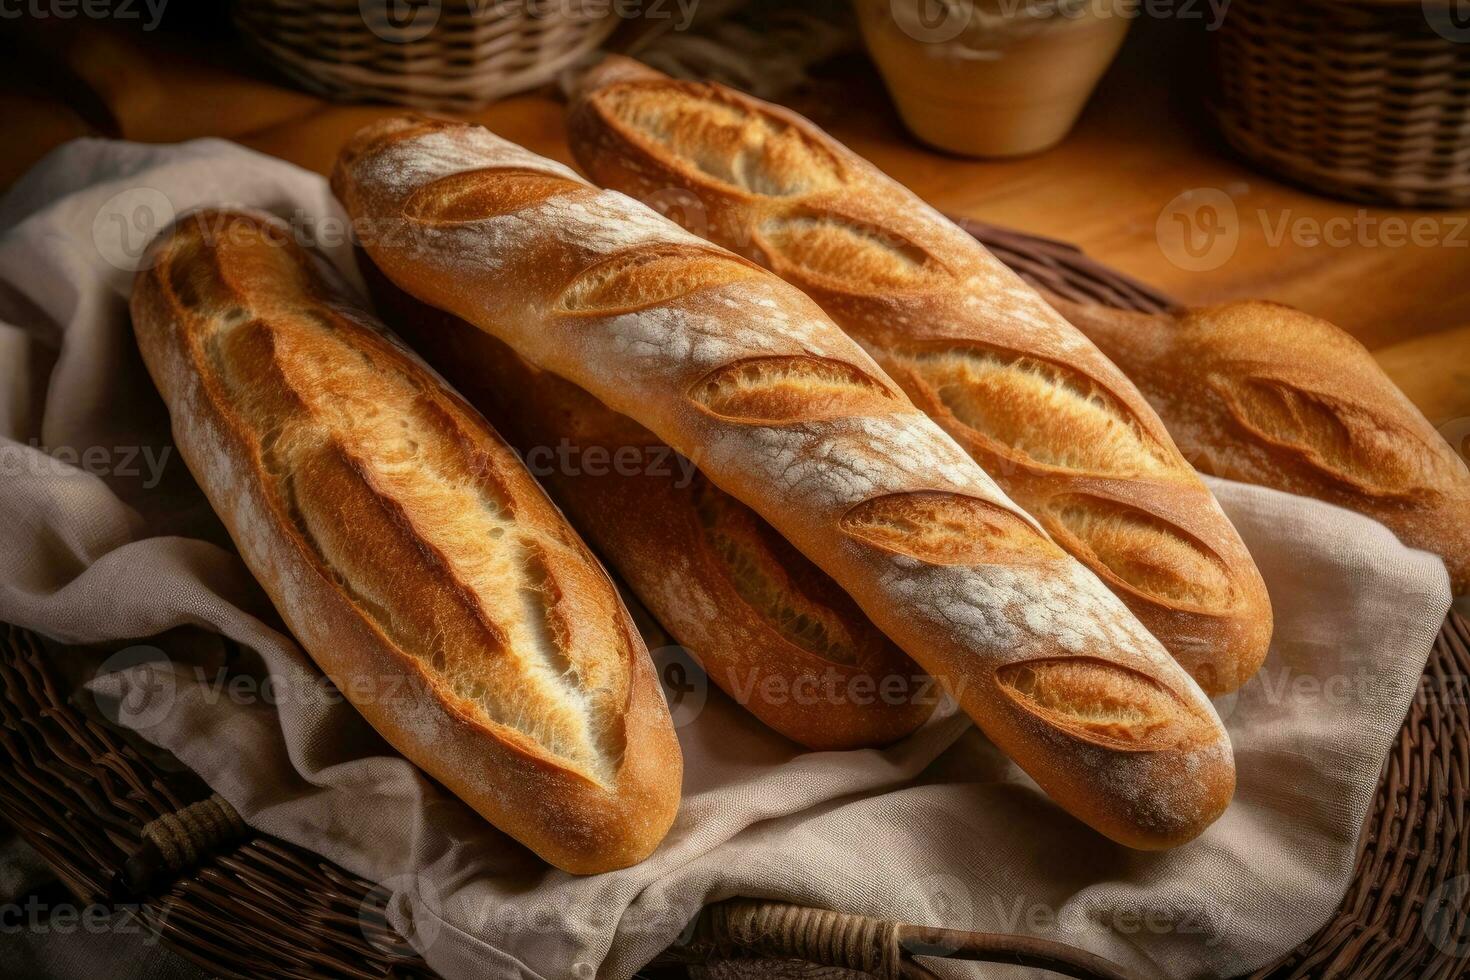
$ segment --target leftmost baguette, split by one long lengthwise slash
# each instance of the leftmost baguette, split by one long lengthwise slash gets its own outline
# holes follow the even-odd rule
[[[551,864],[644,858],[681,757],[607,573],[494,429],[290,229],[197,212],[132,320],[190,470],[322,670]]]

